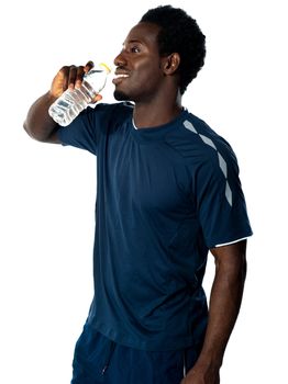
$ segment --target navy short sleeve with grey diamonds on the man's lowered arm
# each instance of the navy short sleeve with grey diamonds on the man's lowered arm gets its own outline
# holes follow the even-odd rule
[[[212,149],[197,172],[196,185],[197,211],[208,248],[252,235],[233,151]]]

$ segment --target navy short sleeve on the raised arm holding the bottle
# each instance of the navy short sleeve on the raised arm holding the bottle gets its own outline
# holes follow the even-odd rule
[[[99,103],[88,106],[68,126],[59,127],[57,135],[63,145],[86,149],[97,155],[97,146],[101,131],[108,122],[109,105]]]

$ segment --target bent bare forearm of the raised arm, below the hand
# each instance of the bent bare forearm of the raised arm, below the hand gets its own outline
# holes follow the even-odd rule
[[[36,140],[56,143],[54,137],[57,124],[48,114],[51,104],[56,100],[51,92],[37,99],[29,110],[24,122],[24,129]]]

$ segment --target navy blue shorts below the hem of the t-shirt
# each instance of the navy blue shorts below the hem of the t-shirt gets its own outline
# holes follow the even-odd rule
[[[71,384],[179,384],[199,351],[143,351],[120,346],[85,325],[73,361]]]

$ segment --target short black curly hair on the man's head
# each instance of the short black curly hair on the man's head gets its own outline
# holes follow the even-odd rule
[[[197,77],[204,65],[206,36],[197,21],[182,9],[160,5],[148,10],[140,22],[153,23],[160,27],[158,34],[159,55],[173,53],[180,55],[179,75],[180,93]]]

